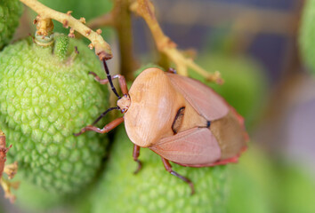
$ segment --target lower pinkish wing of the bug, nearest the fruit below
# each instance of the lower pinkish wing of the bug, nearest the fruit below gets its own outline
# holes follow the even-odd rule
[[[221,158],[220,146],[207,128],[181,131],[161,139],[158,144],[149,146],[149,149],[169,161],[190,167],[217,162]]]

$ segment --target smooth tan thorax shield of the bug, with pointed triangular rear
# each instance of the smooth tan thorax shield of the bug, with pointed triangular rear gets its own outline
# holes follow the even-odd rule
[[[167,75],[158,68],[149,68],[139,75],[129,91],[130,106],[125,113],[125,130],[134,144],[153,146],[161,138],[173,136],[176,114],[184,108],[177,129],[189,129],[191,125],[206,120],[174,89]]]

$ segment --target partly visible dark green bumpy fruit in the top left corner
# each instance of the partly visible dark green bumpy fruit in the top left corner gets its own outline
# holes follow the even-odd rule
[[[22,5],[19,0],[0,1],[0,50],[11,41],[21,13]]]

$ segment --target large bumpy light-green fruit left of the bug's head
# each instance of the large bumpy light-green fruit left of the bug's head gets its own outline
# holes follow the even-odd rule
[[[31,39],[0,52],[0,126],[12,145],[8,160],[51,192],[76,193],[100,169],[106,139],[94,132],[73,135],[108,107],[106,87],[89,71],[101,75],[101,63],[75,39],[62,62],[52,47]]]

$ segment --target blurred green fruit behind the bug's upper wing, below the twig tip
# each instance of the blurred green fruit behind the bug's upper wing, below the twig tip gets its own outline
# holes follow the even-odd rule
[[[209,83],[200,75],[190,72],[192,77],[218,92],[230,106],[245,117],[246,126],[251,126],[262,112],[268,91],[263,67],[254,59],[229,57],[222,54],[202,55],[197,63],[209,72],[219,71],[224,83],[222,85]]]

